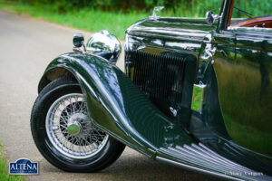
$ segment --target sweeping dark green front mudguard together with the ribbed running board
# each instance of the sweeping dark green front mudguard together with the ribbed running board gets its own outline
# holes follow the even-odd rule
[[[212,146],[207,147],[171,122],[118,67],[102,57],[81,52],[57,57],[46,68],[39,91],[67,74],[79,82],[92,123],[123,144],[170,165],[234,180],[256,179],[248,174],[255,173],[254,170],[219,155]],[[228,153],[235,157],[244,154],[226,140],[218,144],[224,149],[222,153],[228,147]],[[270,175],[269,164],[248,157],[267,168],[265,174]],[[262,173],[257,178],[270,179]]]

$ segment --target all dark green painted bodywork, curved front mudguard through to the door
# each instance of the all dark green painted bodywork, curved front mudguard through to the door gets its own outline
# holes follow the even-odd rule
[[[230,4],[223,1],[222,18],[212,25],[189,18],[144,19],[131,25],[126,32],[126,74],[94,54],[63,54],[48,65],[39,91],[73,74],[93,123],[148,157],[219,172],[203,167],[201,160],[181,159],[161,149],[202,143],[221,157],[272,176],[272,35],[228,30]],[[163,99],[149,99],[131,81],[131,52],[187,63],[177,118]],[[191,110],[198,103],[192,99],[193,85],[199,83],[207,86],[205,101],[201,111]]]

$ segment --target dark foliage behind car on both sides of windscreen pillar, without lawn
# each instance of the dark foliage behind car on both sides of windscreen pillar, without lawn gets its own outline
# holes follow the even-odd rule
[[[151,13],[154,6],[164,6],[166,14],[204,17],[208,10],[219,11],[222,0],[15,0],[28,5],[51,5],[59,14],[82,8],[113,13]],[[254,15],[271,14],[272,0],[236,0],[236,6]],[[219,12],[214,12],[219,13]]]

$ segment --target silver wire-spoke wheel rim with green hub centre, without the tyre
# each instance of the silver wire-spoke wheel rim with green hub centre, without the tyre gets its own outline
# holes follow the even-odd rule
[[[109,139],[92,124],[81,93],[66,94],[55,100],[47,112],[45,129],[54,148],[76,159],[96,155]]]

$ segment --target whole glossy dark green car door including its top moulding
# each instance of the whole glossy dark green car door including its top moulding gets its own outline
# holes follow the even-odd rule
[[[214,69],[228,134],[241,146],[271,157],[272,32],[260,31],[237,28],[215,34]]]

